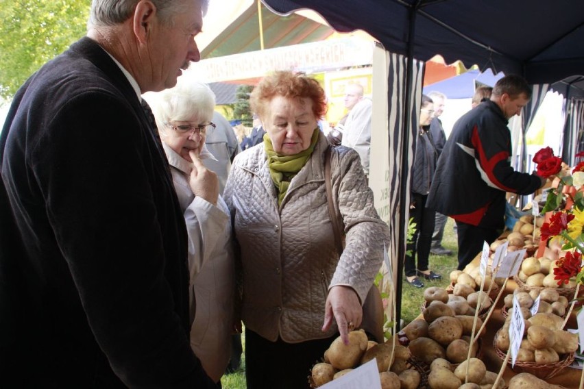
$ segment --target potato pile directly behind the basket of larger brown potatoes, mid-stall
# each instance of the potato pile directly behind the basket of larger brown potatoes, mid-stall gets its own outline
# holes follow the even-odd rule
[[[487,292],[476,292],[471,286],[460,283],[454,286],[452,293],[439,286],[431,286],[424,290],[424,319],[430,323],[434,318],[449,314],[450,316],[466,315],[474,316],[476,308],[480,304],[479,314],[484,314],[492,304],[492,299],[487,296]],[[452,308],[454,315],[450,314]]]

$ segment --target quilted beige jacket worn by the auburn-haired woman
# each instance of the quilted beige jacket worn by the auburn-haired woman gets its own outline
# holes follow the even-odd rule
[[[374,208],[356,151],[332,149],[332,191],[343,216],[346,245],[339,255],[328,213],[320,134],[311,158],[292,179],[278,207],[263,144],[236,156],[223,194],[243,266],[242,318],[268,340],[326,338],[324,305],[332,286],[350,286],[361,302],[382,262],[389,229]]]

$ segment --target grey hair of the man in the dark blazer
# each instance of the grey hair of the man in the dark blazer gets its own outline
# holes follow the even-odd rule
[[[88,27],[91,26],[113,26],[127,20],[140,0],[93,0],[91,1],[91,11],[89,15]],[[173,16],[180,14],[187,5],[187,1],[177,0],[150,0],[162,23],[170,25]],[[207,13],[209,0],[198,0],[201,3],[203,15]]]

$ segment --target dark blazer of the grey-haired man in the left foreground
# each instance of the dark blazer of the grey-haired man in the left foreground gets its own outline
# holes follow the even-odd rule
[[[97,43],[23,85],[0,153],[0,387],[210,385],[167,160]]]

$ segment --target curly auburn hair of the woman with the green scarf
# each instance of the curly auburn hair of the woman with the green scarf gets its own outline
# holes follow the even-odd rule
[[[317,80],[304,73],[277,71],[264,77],[250,95],[250,108],[265,118],[269,102],[276,96],[287,99],[308,98],[313,101],[313,114],[321,118],[326,114],[326,95]]]

